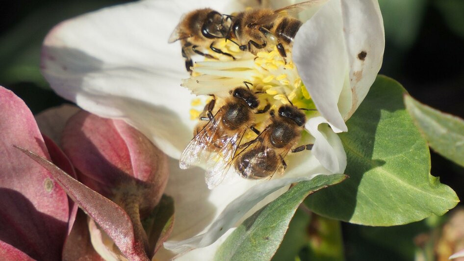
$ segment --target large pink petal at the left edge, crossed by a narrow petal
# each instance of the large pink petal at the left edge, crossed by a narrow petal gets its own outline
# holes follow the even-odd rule
[[[31,258],[58,260],[66,236],[66,193],[11,145],[50,158],[32,113],[0,86],[0,238]]]

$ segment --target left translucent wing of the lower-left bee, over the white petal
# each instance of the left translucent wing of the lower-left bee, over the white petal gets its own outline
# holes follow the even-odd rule
[[[211,143],[218,130],[219,123],[220,117],[214,117],[193,137],[182,155],[180,155],[179,167],[181,169],[188,169],[207,162],[211,154],[209,148],[213,146]]]

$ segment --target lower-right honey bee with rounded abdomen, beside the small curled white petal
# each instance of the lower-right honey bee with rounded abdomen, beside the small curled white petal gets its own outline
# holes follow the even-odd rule
[[[270,111],[269,124],[248,143],[234,159],[236,172],[246,179],[271,178],[274,174],[284,173],[287,164],[284,157],[289,151],[311,150],[312,144],[298,144],[301,131],[306,123],[306,115],[297,107],[287,104],[279,107],[278,114]]]

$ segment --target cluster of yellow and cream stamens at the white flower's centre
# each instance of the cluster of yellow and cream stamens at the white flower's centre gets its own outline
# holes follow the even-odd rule
[[[296,66],[291,58],[291,50],[285,50],[286,57],[282,57],[275,47],[273,51],[259,51],[255,54],[241,51],[236,44],[225,39],[215,43],[215,47],[227,56],[212,51],[206,51],[212,58],[195,62],[192,76],[184,79],[182,86],[190,89],[197,96],[214,95],[215,110],[223,104],[224,99],[230,97],[230,91],[236,87],[249,87],[256,93],[259,109],[270,105],[270,110],[277,111],[283,104],[293,104],[300,109],[309,109],[307,116],[317,113],[315,105],[303,84]],[[264,50],[264,49],[263,49]],[[204,114],[203,106],[208,99],[195,99],[190,110],[191,119],[198,119]],[[257,115],[255,126],[263,130],[269,113]],[[245,141],[252,139],[254,133],[247,132]],[[256,137],[256,135],[254,135]]]

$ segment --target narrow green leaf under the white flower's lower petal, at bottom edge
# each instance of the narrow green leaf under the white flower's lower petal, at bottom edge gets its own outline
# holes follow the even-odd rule
[[[270,260],[284,237],[288,223],[301,202],[311,193],[342,182],[345,175],[316,176],[297,183],[279,198],[259,209],[226,239],[215,260]]]

